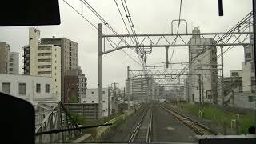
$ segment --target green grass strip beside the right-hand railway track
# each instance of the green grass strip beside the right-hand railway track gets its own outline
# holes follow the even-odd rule
[[[231,119],[236,119],[238,121],[238,116],[236,114],[228,114],[224,110],[220,110],[210,104],[198,105],[191,103],[178,103],[177,105],[195,116],[199,116],[199,110],[201,110],[202,118],[212,120],[220,126],[225,122],[227,126],[230,127]],[[248,128],[254,125],[254,114],[239,115],[238,122],[242,125],[241,134],[248,134]]]

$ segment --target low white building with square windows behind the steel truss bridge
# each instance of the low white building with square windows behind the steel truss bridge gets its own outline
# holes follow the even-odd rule
[[[50,77],[0,74],[0,91],[25,99],[33,105],[42,101],[57,101]]]

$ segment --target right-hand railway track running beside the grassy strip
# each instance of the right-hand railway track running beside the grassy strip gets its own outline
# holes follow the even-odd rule
[[[195,122],[193,119],[188,118],[186,115],[178,113],[176,110],[170,110],[166,108],[166,106],[162,106],[162,109],[166,110],[168,113],[172,114],[174,118],[178,119],[179,122],[182,122],[184,125],[188,126],[191,130],[193,130],[196,134],[199,135],[212,135],[215,134],[208,127],[202,125],[201,123]]]

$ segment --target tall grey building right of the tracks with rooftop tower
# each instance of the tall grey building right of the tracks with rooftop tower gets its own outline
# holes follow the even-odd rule
[[[200,34],[198,28],[194,28],[193,34]],[[200,38],[200,35],[194,35],[190,38],[189,44],[202,45],[204,43],[214,44],[212,38]],[[203,52],[203,53],[202,53]],[[199,102],[200,99],[204,102],[217,103],[218,93],[218,70],[217,70],[217,49],[216,46],[190,46],[189,47],[189,101]],[[201,83],[198,79],[201,74]],[[199,98],[199,85],[201,85],[201,96]]]

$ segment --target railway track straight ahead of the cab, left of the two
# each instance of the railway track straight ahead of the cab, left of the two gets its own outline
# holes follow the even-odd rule
[[[151,106],[146,107],[146,109],[142,113],[142,117],[139,118],[138,124],[135,126],[133,133],[130,136],[128,142],[150,142],[151,140],[151,130],[152,130],[152,119],[153,114],[150,111],[150,120],[146,119],[146,114],[148,114],[149,110],[151,110]],[[142,122],[148,121],[146,129],[142,127]]]

